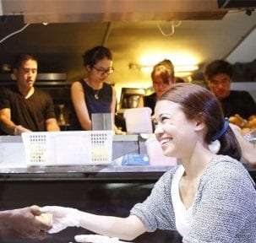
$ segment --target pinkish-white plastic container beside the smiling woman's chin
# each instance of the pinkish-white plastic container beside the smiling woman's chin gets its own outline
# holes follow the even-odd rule
[[[156,138],[149,138],[145,141],[147,154],[150,158],[150,165],[154,166],[173,166],[177,165],[177,159],[167,157],[163,154],[160,143]]]

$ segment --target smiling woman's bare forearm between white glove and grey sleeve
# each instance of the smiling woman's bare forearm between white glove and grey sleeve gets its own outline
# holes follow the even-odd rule
[[[133,240],[145,232],[144,224],[136,216],[118,218],[81,212],[80,226],[100,235]]]

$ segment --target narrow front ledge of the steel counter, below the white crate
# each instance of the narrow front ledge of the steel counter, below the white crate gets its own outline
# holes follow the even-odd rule
[[[0,181],[155,181],[169,168],[130,165],[0,168]]]

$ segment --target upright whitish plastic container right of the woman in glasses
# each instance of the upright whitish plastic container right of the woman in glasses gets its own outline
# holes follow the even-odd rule
[[[123,113],[126,130],[129,134],[152,133],[150,107],[131,108]]]

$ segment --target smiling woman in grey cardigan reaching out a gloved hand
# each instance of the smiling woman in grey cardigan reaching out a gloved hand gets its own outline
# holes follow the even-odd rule
[[[177,230],[184,243],[253,242],[255,184],[237,161],[239,145],[215,95],[199,85],[176,84],[157,101],[155,119],[155,135],[164,154],[177,156],[181,165],[162,175],[150,196],[135,204],[126,218],[43,208],[53,214],[50,232],[80,226],[133,240],[145,231],[167,229]],[[220,141],[216,153],[209,148],[213,139]]]

